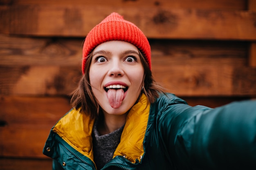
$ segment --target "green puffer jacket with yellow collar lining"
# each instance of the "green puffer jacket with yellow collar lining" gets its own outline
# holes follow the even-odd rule
[[[52,128],[43,154],[53,170],[96,170],[94,120],[70,110]],[[256,167],[256,101],[191,107],[173,94],[130,110],[120,144],[103,169],[185,170]]]

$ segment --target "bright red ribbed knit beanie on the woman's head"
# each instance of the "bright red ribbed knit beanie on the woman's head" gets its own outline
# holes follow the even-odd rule
[[[126,41],[135,45],[144,55],[145,60],[151,69],[151,51],[148,39],[135,24],[124,20],[121,15],[114,12],[96,25],[86,36],[83,45],[83,74],[85,73],[87,56],[99,44],[112,40]]]

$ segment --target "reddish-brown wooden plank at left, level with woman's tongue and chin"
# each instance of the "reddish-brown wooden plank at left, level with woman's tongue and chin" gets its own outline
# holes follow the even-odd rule
[[[51,128],[70,109],[68,97],[0,97],[1,126],[38,126]]]

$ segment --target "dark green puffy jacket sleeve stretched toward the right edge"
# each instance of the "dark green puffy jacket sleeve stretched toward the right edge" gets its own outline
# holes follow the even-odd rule
[[[170,105],[162,112],[161,126],[162,139],[177,167],[256,167],[256,101],[215,109]]]

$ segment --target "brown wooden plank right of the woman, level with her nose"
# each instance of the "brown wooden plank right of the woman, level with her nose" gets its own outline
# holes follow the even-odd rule
[[[232,66],[152,66],[160,85],[180,96],[256,95],[256,69]]]

